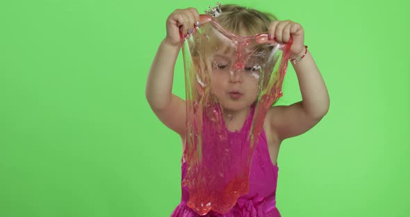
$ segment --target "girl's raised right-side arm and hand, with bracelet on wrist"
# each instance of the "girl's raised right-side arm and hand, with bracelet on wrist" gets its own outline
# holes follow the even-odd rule
[[[289,106],[273,106],[266,117],[272,132],[277,138],[284,140],[303,134],[315,126],[329,110],[330,100],[325,81],[310,52],[304,47],[302,26],[290,20],[275,21],[270,26],[270,34],[270,39],[274,38],[278,42],[288,42],[292,37],[290,58],[304,56],[301,61],[292,63],[299,81],[302,101]]]

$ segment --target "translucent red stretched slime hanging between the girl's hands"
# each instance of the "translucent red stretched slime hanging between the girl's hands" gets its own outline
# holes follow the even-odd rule
[[[202,18],[206,15],[201,15]],[[283,95],[291,42],[268,42],[266,33],[240,36],[206,17],[195,33],[183,40],[186,79],[186,145],[188,164],[181,185],[189,192],[188,207],[203,216],[227,213],[249,191],[249,170],[255,144],[270,106]],[[254,79],[257,85],[251,127],[245,138],[229,138],[221,94],[221,76]],[[233,101],[239,93],[231,93]],[[238,99],[239,101],[240,99]]]

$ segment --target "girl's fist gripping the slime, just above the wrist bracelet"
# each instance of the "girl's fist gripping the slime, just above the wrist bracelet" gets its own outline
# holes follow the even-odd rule
[[[302,26],[291,20],[275,20],[270,23],[268,41],[287,43],[290,37],[293,39],[290,47],[290,58],[302,56],[304,54],[304,31]]]

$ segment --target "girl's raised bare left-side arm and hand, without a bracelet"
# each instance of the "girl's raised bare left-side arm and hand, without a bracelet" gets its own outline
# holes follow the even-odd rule
[[[161,42],[149,70],[145,96],[156,116],[167,127],[184,136],[186,107],[183,99],[172,94],[174,66],[181,49],[181,33],[192,33],[199,21],[195,8],[175,10],[167,18],[167,36]]]

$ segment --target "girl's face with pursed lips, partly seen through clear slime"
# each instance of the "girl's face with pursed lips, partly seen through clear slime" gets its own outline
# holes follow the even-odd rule
[[[217,52],[211,64],[211,91],[224,109],[241,111],[256,101],[261,76],[257,61]]]

